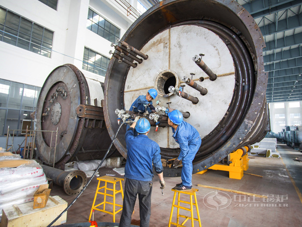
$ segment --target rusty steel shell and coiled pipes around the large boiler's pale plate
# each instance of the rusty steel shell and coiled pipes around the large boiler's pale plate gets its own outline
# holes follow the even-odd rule
[[[214,15],[213,12],[215,12]],[[219,36],[232,55],[236,78],[234,94],[228,110],[217,126],[202,138],[201,147],[193,160],[194,174],[217,163],[232,151],[250,144],[251,141],[259,140],[263,136],[267,125],[265,90],[268,75],[264,72],[262,48],[265,47],[265,42],[260,29],[251,15],[236,2],[162,1],[139,17],[130,26],[121,41],[141,50],[161,32],[181,26],[205,28]],[[189,57],[192,59],[192,56]],[[145,61],[152,61],[150,59],[149,56]],[[143,64],[144,62],[140,65]],[[124,98],[125,84],[131,70],[128,65],[119,64],[115,58],[111,59],[108,66],[104,91],[104,117],[111,138],[114,137],[118,128],[114,110],[129,108],[129,106],[125,106]],[[175,71],[178,74],[177,68],[169,68],[166,71]],[[141,72],[141,75],[134,76],[143,77],[145,75]],[[211,83],[218,83],[219,78],[221,77],[217,75],[217,79]],[[149,88],[159,91],[154,84],[150,84],[150,87],[145,89]],[[201,98],[207,96],[208,94]],[[192,108],[194,109],[194,106]],[[198,112],[199,109],[196,107],[195,111]],[[195,122],[198,122],[198,118],[195,119]],[[200,124],[202,125],[202,122]],[[124,134],[125,128],[122,128],[114,145],[126,157]],[[161,146],[162,158],[177,157],[179,151],[179,148]],[[165,176],[172,177],[180,176],[180,173],[180,168],[166,168],[164,171]]]

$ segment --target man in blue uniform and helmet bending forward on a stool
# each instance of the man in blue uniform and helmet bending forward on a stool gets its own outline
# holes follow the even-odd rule
[[[192,188],[192,161],[201,145],[198,131],[189,123],[183,121],[183,115],[179,110],[168,113],[168,124],[172,127],[173,138],[179,144],[180,154],[172,163],[172,167],[179,165],[182,160],[181,180],[174,189],[178,191],[190,190]]]

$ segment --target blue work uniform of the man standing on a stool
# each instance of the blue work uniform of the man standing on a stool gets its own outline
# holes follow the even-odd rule
[[[178,160],[182,160],[181,180],[184,186],[192,186],[192,161],[201,145],[198,131],[189,123],[182,121],[175,130],[172,128],[173,138],[179,144],[180,154]]]

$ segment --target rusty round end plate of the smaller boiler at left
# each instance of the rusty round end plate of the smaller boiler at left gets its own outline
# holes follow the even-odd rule
[[[86,128],[75,109],[87,104],[88,96],[85,77],[72,65],[57,67],[46,78],[36,108],[36,146],[44,163],[52,165],[66,156],[70,159],[80,149]]]

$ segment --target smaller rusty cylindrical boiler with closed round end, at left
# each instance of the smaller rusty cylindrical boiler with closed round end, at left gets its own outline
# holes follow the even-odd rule
[[[46,78],[36,108],[36,129],[58,133],[36,134],[45,164],[64,169],[67,161],[105,155],[111,139],[104,121],[102,85],[98,77],[87,78],[70,64],[57,67]],[[119,154],[114,150],[111,154]]]

